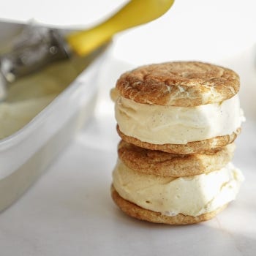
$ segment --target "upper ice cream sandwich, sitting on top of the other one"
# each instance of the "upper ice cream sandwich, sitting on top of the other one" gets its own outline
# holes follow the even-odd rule
[[[151,64],[125,72],[112,97],[118,135],[127,143],[174,154],[232,143],[244,119],[239,77],[197,61]]]

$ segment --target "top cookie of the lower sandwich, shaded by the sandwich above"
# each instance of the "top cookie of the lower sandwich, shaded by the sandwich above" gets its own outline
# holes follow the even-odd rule
[[[140,148],[121,140],[118,157],[139,173],[163,177],[195,176],[225,167],[233,158],[234,143],[203,154],[171,154]]]

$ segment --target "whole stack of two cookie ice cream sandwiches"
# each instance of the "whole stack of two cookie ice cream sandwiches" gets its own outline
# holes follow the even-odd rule
[[[121,142],[112,197],[149,222],[184,225],[214,217],[236,198],[243,175],[230,162],[244,119],[239,78],[195,61],[139,67],[111,96]]]

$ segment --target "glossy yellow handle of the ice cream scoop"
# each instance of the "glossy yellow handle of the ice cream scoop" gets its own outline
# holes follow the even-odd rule
[[[173,5],[174,0],[131,0],[115,15],[98,26],[67,36],[73,51],[84,56],[108,42],[113,34],[159,18]]]

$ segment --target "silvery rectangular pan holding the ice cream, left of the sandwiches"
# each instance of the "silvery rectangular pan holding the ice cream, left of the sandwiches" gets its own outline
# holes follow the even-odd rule
[[[20,26],[0,25],[1,41],[17,34]],[[25,127],[0,140],[0,211],[33,184],[91,116],[97,97],[93,81],[105,54],[106,50]]]

